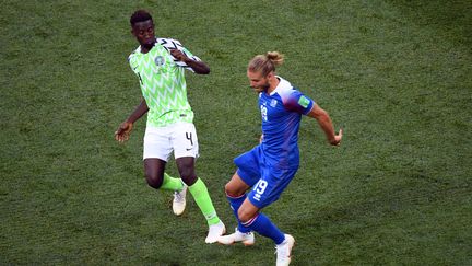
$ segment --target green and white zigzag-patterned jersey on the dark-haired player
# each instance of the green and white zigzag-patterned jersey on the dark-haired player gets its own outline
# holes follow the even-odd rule
[[[169,49],[179,49],[187,57],[200,61],[178,41],[170,38],[157,38],[148,54],[142,54],[140,46],[128,57],[150,108],[148,126],[164,127],[179,122],[193,122],[193,112],[187,100],[185,69],[193,70],[175,59]]]

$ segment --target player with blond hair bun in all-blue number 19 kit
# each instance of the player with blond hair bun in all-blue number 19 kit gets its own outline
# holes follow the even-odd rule
[[[247,77],[259,93],[262,136],[258,146],[234,160],[238,169],[225,185],[225,192],[238,227],[235,233],[219,238],[226,245],[235,242],[252,245],[253,232],[270,238],[276,244],[278,266],[290,264],[295,239],[283,233],[260,210],[279,199],[298,170],[302,115],[317,119],[330,144],[339,146],[342,139],[342,129],[335,134],[324,109],[275,74],[275,67],[283,59],[283,55],[273,51],[256,56],[249,62]]]

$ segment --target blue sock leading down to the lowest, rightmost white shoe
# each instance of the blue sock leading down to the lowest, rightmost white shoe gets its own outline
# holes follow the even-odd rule
[[[275,224],[273,224],[272,221],[262,213],[257,215],[255,218],[245,223],[240,223],[238,230],[241,231],[241,228],[246,230],[249,229],[249,231],[256,231],[260,235],[273,240],[278,245],[285,240],[285,235],[279,230],[279,228],[275,227]]]

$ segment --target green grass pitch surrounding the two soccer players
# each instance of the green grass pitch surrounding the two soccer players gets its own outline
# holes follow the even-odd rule
[[[273,265],[273,244],[204,244],[190,199],[149,188],[127,56],[129,16],[146,8],[212,68],[188,74],[197,170],[232,230],[223,187],[257,143],[246,65],[279,50],[279,73],[326,108],[345,137],[300,128],[302,166],[264,212],[297,245],[293,265],[472,263],[470,1],[2,1],[0,264]],[[158,19],[157,19],[158,18]],[[175,163],[168,171],[176,174]]]

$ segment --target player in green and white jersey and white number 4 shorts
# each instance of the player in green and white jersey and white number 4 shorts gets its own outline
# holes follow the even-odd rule
[[[226,229],[216,215],[205,184],[196,175],[199,147],[185,79],[185,70],[208,74],[210,68],[178,41],[156,38],[149,12],[135,11],[130,23],[140,46],[128,60],[139,78],[143,99],[118,127],[115,139],[119,142],[128,140],[134,122],[148,113],[143,151],[148,184],[155,189],[175,192],[173,210],[177,216],[185,210],[188,188],[209,224],[205,242],[214,243]],[[173,151],[181,180],[165,173]]]

